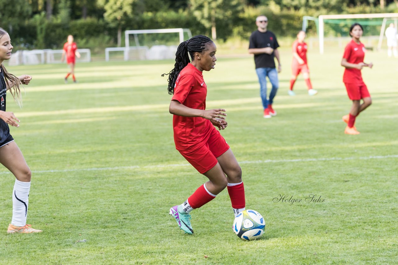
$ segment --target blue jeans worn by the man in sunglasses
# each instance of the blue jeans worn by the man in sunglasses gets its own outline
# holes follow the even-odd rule
[[[276,68],[256,68],[256,73],[258,75],[258,81],[260,83],[260,97],[263,101],[264,109],[268,108],[268,104],[272,104],[273,98],[276,95],[279,87],[278,80],[278,72]],[[268,76],[269,81],[271,82],[272,89],[271,93],[269,93],[269,99],[267,99],[267,79],[265,77]]]

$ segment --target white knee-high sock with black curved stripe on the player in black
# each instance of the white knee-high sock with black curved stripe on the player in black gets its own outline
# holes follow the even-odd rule
[[[15,180],[12,190],[12,221],[14,226],[25,226],[29,202],[30,182]]]

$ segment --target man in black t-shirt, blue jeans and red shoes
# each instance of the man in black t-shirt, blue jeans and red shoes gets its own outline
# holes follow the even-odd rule
[[[257,30],[250,36],[249,53],[254,54],[254,63],[260,83],[260,96],[263,101],[264,118],[271,118],[276,115],[272,108],[273,98],[279,87],[278,73],[281,72],[281,61],[277,48],[279,44],[275,35],[267,31],[268,19],[265,15],[256,18]],[[275,60],[278,61],[278,71],[275,68]],[[267,98],[267,80],[272,84],[271,93]]]

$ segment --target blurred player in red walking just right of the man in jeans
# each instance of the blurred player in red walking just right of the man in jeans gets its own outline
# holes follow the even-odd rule
[[[318,93],[312,89],[310,80],[310,70],[307,64],[307,44],[304,42],[305,31],[300,31],[297,34],[297,40],[293,42],[293,62],[292,62],[292,78],[290,79],[289,95],[295,96],[293,85],[296,82],[297,76],[302,73],[305,83],[308,87],[308,95],[313,96]]]

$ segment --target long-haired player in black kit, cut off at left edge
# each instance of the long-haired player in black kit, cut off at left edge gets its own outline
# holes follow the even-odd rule
[[[0,163],[8,168],[16,178],[12,190],[12,221],[7,232],[42,232],[33,229],[30,224],[26,224],[31,171],[8,127],[8,124],[19,127],[20,120],[14,116],[14,113],[6,111],[6,92],[9,91],[14,100],[20,102],[20,84],[27,85],[32,79],[30,75],[16,77],[7,72],[3,61],[11,58],[12,48],[14,47],[11,44],[10,36],[0,28]]]

